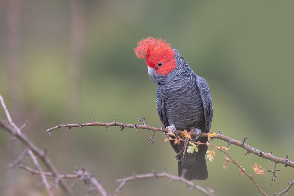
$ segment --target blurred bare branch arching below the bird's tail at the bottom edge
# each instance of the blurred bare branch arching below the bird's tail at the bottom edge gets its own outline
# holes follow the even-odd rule
[[[113,194],[113,196],[116,196],[121,191],[122,187],[124,185],[126,185],[126,182],[129,180],[136,180],[139,178],[143,178],[143,179],[158,178],[158,177],[167,177],[167,178],[171,179],[170,181],[173,181],[173,180],[181,181],[181,182],[185,183],[186,185],[188,185],[188,187],[191,187],[189,190],[195,189],[195,190],[198,190],[199,192],[202,192],[204,195],[215,196],[213,190],[208,190],[204,187],[201,187],[200,185],[195,184],[195,182],[187,180],[183,176],[171,175],[171,174],[167,173],[166,170],[164,170],[162,173],[156,173],[153,170],[151,173],[140,174],[140,175],[133,174],[129,177],[118,179],[118,180],[116,180],[116,183],[119,183],[119,184],[118,184],[118,187],[116,188],[116,191]]]

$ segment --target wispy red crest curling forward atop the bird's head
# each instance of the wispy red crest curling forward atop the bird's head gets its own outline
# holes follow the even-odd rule
[[[165,52],[168,49],[171,49],[171,45],[165,43],[165,40],[162,41],[160,38],[157,39],[150,36],[137,42],[135,53],[137,57],[141,59]]]

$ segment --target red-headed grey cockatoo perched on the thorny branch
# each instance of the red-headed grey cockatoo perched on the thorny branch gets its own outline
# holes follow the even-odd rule
[[[212,100],[205,79],[196,75],[176,49],[165,40],[147,37],[138,41],[135,48],[138,58],[145,58],[150,79],[158,84],[156,106],[161,123],[175,130],[209,132],[212,121]],[[198,136],[193,141],[198,141]],[[201,138],[206,143],[207,138]],[[171,145],[181,152],[184,142]],[[183,170],[188,180],[208,178],[205,154],[206,145],[199,145],[198,152],[179,154],[178,175]]]

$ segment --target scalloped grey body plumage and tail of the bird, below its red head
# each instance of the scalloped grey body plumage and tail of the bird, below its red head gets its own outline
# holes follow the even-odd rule
[[[213,116],[211,94],[208,84],[202,77],[197,76],[174,49],[177,67],[168,75],[154,73],[151,80],[158,84],[156,92],[156,105],[158,116],[165,127],[174,125],[177,130],[190,131],[196,127],[201,132],[209,132]],[[206,143],[207,138],[201,138]],[[178,153],[183,149],[183,142],[174,145]],[[182,170],[187,170],[184,177],[188,180],[205,180],[208,178],[205,153],[206,145],[200,145],[198,152],[186,153],[179,156],[179,176]]]

